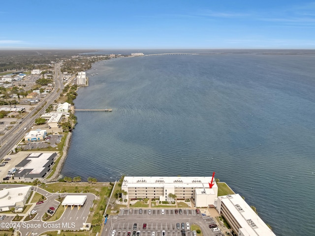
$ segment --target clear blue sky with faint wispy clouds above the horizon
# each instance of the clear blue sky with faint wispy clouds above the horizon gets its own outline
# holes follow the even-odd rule
[[[3,0],[0,49],[315,49],[309,0]]]

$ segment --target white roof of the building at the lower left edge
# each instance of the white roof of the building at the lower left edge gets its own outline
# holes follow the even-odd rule
[[[13,207],[17,202],[23,202],[31,186],[4,188],[0,190],[0,207]]]

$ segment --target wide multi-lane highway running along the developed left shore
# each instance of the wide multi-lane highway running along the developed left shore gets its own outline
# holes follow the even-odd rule
[[[45,108],[47,108],[50,104],[54,103],[57,98],[59,98],[63,88],[63,77],[60,64],[55,63],[54,89],[52,89],[52,91],[46,97],[44,97],[29,114],[27,114],[23,119],[19,120],[21,123],[18,124],[17,128],[13,127],[1,137],[0,160],[3,159],[6,154],[14,148],[14,146],[23,138],[23,136],[25,136],[24,128],[26,127],[27,130],[29,130],[35,119],[45,113]],[[43,106],[45,103],[46,105]],[[36,115],[34,115],[35,113]]]

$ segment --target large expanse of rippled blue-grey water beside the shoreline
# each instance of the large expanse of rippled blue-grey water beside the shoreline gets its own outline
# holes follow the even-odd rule
[[[211,176],[276,235],[315,235],[315,56],[100,61],[78,90],[63,176]]]

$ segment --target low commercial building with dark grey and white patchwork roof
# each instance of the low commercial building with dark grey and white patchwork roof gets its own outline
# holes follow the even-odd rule
[[[57,153],[31,153],[23,161],[15,166],[18,171],[14,179],[43,180],[55,163]]]

